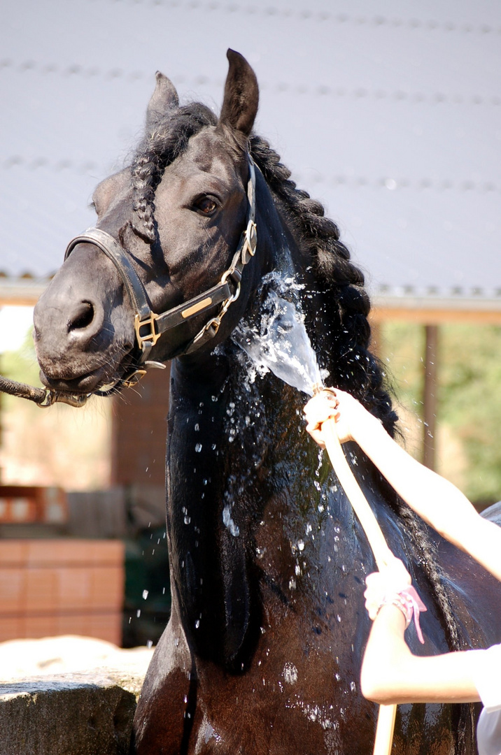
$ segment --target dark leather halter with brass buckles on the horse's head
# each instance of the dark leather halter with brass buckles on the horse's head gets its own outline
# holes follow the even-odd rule
[[[144,285],[135,272],[127,251],[119,245],[116,239],[113,239],[113,236],[110,236],[101,228],[89,228],[68,244],[64,254],[65,260],[78,244],[92,244],[101,249],[115,265],[135,310],[135,341],[139,350],[141,350],[141,356],[138,360],[138,366],[122,378],[119,381],[120,384],[133,384],[139,380],[146,372],[144,367],[160,366],[157,362],[148,362],[148,356],[162,333],[175,328],[181,322],[187,322],[204,310],[212,309],[216,304],[222,303],[218,314],[209,319],[187,346],[183,347],[175,356],[190,354],[205,346],[217,334],[221,319],[227,313],[230,304],[239,297],[243,268],[251,257],[254,257],[258,241],[255,224],[255,164],[250,155],[247,157],[249,161],[249,180],[247,183],[249,207],[247,208],[246,228],[242,233],[237,251],[233,254],[230,267],[224,271],[218,284],[178,307],[172,307],[172,309],[165,310],[159,315],[151,310]]]

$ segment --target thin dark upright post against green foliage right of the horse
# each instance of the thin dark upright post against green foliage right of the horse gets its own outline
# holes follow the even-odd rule
[[[425,325],[422,463],[435,470],[438,390],[438,325]]]

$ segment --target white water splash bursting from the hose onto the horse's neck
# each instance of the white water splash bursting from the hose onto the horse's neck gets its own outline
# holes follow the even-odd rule
[[[308,396],[323,385],[328,374],[320,372],[317,356],[298,310],[273,289],[264,301],[264,314],[257,328],[240,323],[233,331],[233,340],[247,355],[285,383]]]

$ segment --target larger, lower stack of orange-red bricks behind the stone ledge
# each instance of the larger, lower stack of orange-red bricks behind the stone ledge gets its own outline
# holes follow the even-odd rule
[[[3,540],[0,641],[81,634],[122,639],[121,541]]]

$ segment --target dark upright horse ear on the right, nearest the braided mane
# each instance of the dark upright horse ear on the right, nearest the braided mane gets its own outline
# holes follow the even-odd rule
[[[219,124],[227,125],[249,136],[258,112],[259,88],[255,72],[245,57],[234,50],[226,54],[230,69],[224,85],[224,100]]]

